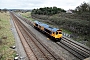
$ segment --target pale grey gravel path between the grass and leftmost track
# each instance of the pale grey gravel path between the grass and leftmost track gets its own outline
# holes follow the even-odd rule
[[[13,20],[10,20],[10,24],[12,25],[11,30],[15,38],[15,46],[16,46],[16,52],[19,54],[19,60],[28,60],[27,55],[24,51],[24,48],[22,46],[22,43],[20,41],[20,38],[18,36],[18,33],[16,31],[16,28],[14,26]]]

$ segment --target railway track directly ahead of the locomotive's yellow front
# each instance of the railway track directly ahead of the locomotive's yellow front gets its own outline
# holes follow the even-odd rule
[[[63,40],[63,39],[62,39]],[[77,57],[80,60],[83,60],[87,57],[90,56],[90,54],[87,54],[83,51],[77,50],[76,45],[72,45],[67,41],[61,41],[60,43],[57,42],[56,44],[58,44],[59,46],[61,46],[62,48],[64,48],[65,50],[69,51],[71,54],[73,54],[75,57]],[[77,46],[78,47],[78,46]],[[79,49],[79,48],[78,48]]]

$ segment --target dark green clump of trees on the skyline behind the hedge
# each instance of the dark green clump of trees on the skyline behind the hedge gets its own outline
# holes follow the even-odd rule
[[[39,14],[39,15],[53,15],[60,12],[66,12],[64,9],[57,8],[57,7],[44,7],[39,9],[33,9],[32,14]]]

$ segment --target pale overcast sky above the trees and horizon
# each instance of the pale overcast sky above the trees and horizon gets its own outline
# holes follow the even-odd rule
[[[68,10],[75,9],[83,2],[90,2],[90,0],[0,0],[0,9],[34,9],[56,6]]]

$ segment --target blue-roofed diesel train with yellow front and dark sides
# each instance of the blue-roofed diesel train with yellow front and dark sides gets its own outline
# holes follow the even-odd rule
[[[44,32],[44,34],[49,35],[51,39],[55,41],[60,41],[62,38],[62,30],[60,29],[50,27],[49,25],[39,21],[34,21],[33,26],[38,30]]]

